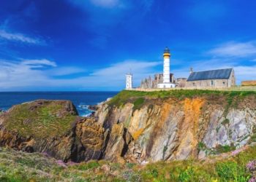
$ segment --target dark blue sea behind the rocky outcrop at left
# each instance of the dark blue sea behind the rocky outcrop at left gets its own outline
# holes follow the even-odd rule
[[[7,111],[14,105],[38,99],[70,100],[75,105],[80,116],[88,116],[87,108],[108,98],[113,98],[118,92],[0,92],[0,109]]]

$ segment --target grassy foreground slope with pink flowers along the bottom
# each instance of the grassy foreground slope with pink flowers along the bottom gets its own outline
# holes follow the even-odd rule
[[[67,167],[42,154],[0,149],[0,181],[248,181],[256,158],[256,146],[207,159],[155,162],[146,166],[119,165],[105,161],[81,162]],[[110,171],[101,170],[110,165]]]

